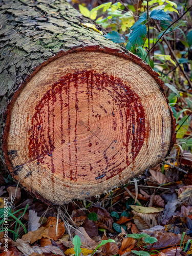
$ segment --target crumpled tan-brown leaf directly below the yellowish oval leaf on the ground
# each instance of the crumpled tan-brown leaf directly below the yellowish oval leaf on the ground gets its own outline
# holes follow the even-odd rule
[[[141,212],[132,211],[133,220],[139,230],[148,229],[157,225],[155,217],[157,214],[142,214]]]

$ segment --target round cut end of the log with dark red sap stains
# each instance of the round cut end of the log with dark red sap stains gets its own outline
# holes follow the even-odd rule
[[[41,61],[11,97],[2,159],[45,202],[109,191],[161,162],[175,142],[158,74],[102,40]]]

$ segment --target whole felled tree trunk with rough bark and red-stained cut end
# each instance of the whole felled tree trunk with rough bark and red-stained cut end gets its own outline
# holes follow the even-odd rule
[[[61,205],[165,158],[175,121],[144,61],[65,1],[5,0],[0,11],[1,159],[20,185]]]

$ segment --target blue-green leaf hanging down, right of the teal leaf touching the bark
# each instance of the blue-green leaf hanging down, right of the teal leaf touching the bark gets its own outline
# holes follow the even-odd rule
[[[131,33],[129,37],[129,41],[131,42],[133,47],[141,46],[144,44],[144,40],[146,39],[147,30],[145,25],[138,25]]]

